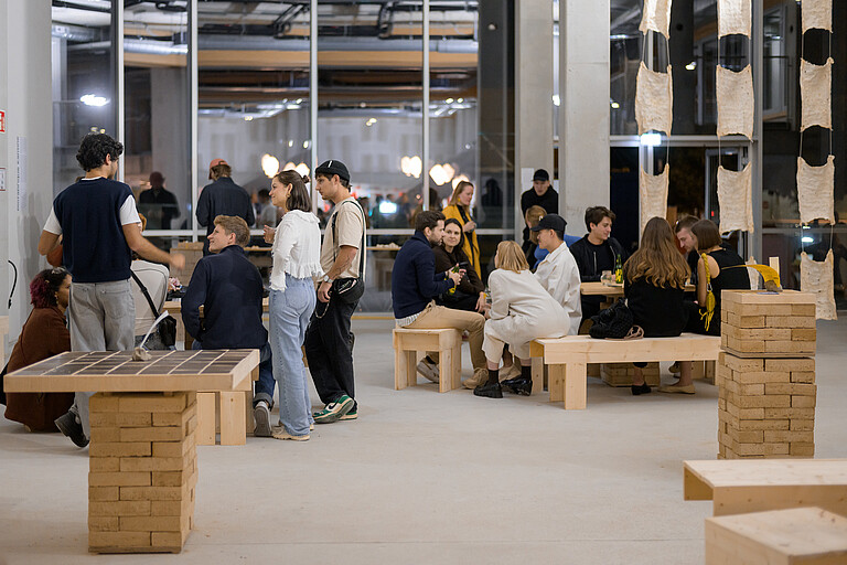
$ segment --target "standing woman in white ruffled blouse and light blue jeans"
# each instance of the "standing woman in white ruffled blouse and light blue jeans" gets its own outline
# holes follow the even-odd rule
[[[282,171],[274,177],[268,205],[286,211],[276,230],[265,227],[265,241],[272,243],[274,267],[270,273],[270,350],[274,379],[279,390],[279,425],[277,439],[307,441],[312,417],[309,381],[301,348],[305,328],[314,311],[312,279],[323,276],[321,269],[321,228],[312,214],[309,179],[297,171]],[[260,403],[264,401],[260,401]],[[266,403],[267,404],[267,403]],[[262,408],[264,409],[264,408]]]

